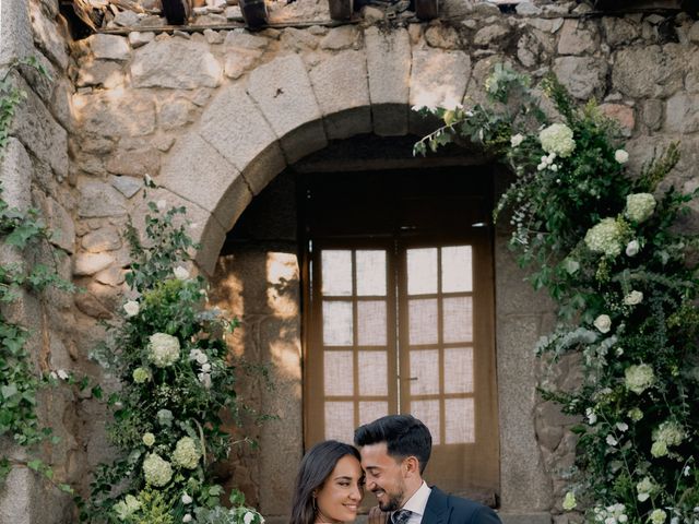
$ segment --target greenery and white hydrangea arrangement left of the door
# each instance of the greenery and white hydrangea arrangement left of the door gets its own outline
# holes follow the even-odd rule
[[[233,509],[221,505],[224,490],[212,467],[236,443],[222,417],[239,426],[246,409],[236,394],[244,367],[224,340],[236,321],[206,308],[205,279],[186,269],[197,246],[185,207],[147,205],[143,241],[133,226],[127,230],[132,298],[93,354],[120,382],[108,396],[107,427],[120,453],[97,469],[82,519],[261,524],[237,491]]]

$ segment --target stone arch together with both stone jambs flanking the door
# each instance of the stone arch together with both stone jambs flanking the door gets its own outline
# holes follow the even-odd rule
[[[197,262],[206,274],[214,273],[226,235],[246,207],[284,169],[359,134],[422,135],[425,122],[414,118],[410,110],[413,105],[461,100],[466,87],[469,92],[475,90],[476,96],[481,91],[485,74],[471,79],[467,55],[441,51],[433,62],[429,50],[411,53],[405,31],[367,33],[367,39],[378,41],[367,46],[370,50],[366,57],[354,50],[342,51],[313,70],[318,78],[312,82],[301,59],[288,55],[252,71],[247,83],[222,88],[197,126],[169,153],[157,179],[162,188],[157,198],[188,207],[194,240],[201,243]],[[387,160],[393,162],[384,157],[377,167],[388,167]],[[414,166],[445,162],[413,159],[410,155],[399,160]],[[461,155],[449,162],[474,160]],[[522,282],[522,274],[507,253],[506,239],[506,229],[496,235],[494,253],[500,508],[505,515],[518,520],[528,515],[535,522],[548,522],[550,479],[537,443],[535,362],[529,348],[542,332],[550,308]],[[297,262],[286,254],[288,274],[276,275],[277,285],[298,277]],[[274,283],[265,281],[265,293],[274,295]],[[301,347],[294,334],[295,330],[300,332],[301,308],[294,300],[288,306],[291,312],[283,312],[279,322],[248,326],[256,330],[259,342],[270,342],[265,330],[272,330],[271,337],[281,341],[268,346],[271,353],[264,357],[281,370],[276,378],[286,393],[262,400],[272,414],[284,414],[288,426],[263,428],[259,436],[262,453],[254,464],[240,469],[245,478],[235,479],[238,485],[248,483],[257,489],[262,512],[279,516],[280,522],[286,514],[295,466],[303,453]],[[289,398],[294,400],[291,404]]]

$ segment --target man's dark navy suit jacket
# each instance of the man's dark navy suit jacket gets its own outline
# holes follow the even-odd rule
[[[487,505],[447,495],[434,486],[431,490],[422,524],[501,524]]]

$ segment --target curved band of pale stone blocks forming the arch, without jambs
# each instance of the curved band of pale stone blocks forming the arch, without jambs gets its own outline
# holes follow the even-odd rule
[[[225,231],[286,166],[331,140],[422,134],[412,106],[463,99],[471,79],[465,52],[412,50],[406,29],[371,27],[365,39],[365,49],[341,51],[311,73],[298,55],[258,67],[247,82],[223,87],[178,141],[158,183],[205,212],[197,218],[204,271]]]

